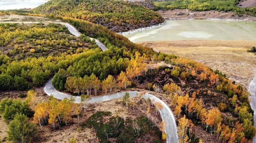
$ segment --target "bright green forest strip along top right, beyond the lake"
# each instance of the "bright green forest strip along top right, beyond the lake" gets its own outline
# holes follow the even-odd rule
[[[159,9],[189,9],[193,11],[234,11],[239,14],[248,14],[256,16],[256,7],[239,8],[236,5],[238,0],[171,0],[171,1],[155,1],[155,10]]]

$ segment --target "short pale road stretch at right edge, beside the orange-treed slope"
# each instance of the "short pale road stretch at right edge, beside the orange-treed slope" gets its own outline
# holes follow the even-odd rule
[[[248,90],[251,93],[250,105],[251,105],[251,107],[254,111],[253,119],[254,119],[254,127],[256,128],[256,98],[255,98],[255,94],[256,94],[256,75],[254,76],[253,80],[251,81]],[[254,136],[254,138],[253,138],[253,143],[256,143],[256,136]]]

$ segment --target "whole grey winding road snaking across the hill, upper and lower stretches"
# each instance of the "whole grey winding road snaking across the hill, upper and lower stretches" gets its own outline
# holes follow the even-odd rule
[[[35,22],[35,21],[22,21],[22,22],[20,22],[20,21],[4,21],[4,22],[0,22],[0,23],[39,23],[39,22]],[[74,26],[71,24],[64,23],[64,22],[53,22],[53,23],[65,25],[67,27],[67,29],[70,31],[70,33],[77,37],[81,35],[81,33],[79,31],[77,31],[74,28]],[[93,40],[94,38],[90,38],[90,39]],[[102,51],[108,50],[108,48],[103,43],[101,43],[99,40],[97,40],[97,39],[94,39],[94,40],[95,40],[96,44],[101,48]],[[62,92],[57,91],[52,85],[52,79],[46,83],[46,85],[44,87],[44,92],[47,95],[49,95],[49,96],[52,95],[53,97],[60,99],[60,100],[62,100],[64,98],[70,99],[71,97],[73,97],[75,99],[75,102],[77,102],[77,103],[81,102],[80,97],[64,94]],[[120,99],[125,95],[125,93],[126,92],[119,92],[119,93],[115,93],[115,94],[111,94],[111,95],[92,97],[91,100],[89,101],[89,103],[102,102],[102,101],[108,101],[108,100],[113,100],[113,99]],[[141,92],[128,91],[127,93],[129,93],[130,97],[137,97]],[[166,122],[166,127],[165,127],[165,132],[167,134],[166,142],[167,143],[179,143],[175,118],[174,118],[172,111],[167,106],[167,104],[152,94],[146,93],[142,97],[144,99],[147,99],[147,98],[151,99],[153,101],[153,103],[160,102],[163,105],[163,109],[159,110],[159,112],[161,114],[162,120]]]

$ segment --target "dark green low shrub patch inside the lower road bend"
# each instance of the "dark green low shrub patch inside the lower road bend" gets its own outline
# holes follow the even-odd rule
[[[81,126],[94,128],[101,143],[116,140],[117,143],[131,143],[142,135],[150,135],[151,140],[162,143],[162,132],[147,117],[123,119],[111,116],[111,112],[96,112]]]

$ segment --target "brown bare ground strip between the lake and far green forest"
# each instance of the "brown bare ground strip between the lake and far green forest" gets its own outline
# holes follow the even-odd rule
[[[255,0],[254,0],[255,1]],[[157,13],[161,14],[164,19],[170,20],[184,20],[184,19],[231,19],[231,20],[252,20],[256,21],[256,17],[246,14],[239,16],[234,12],[219,12],[216,10],[210,11],[191,11],[186,9],[174,10],[159,10]]]

